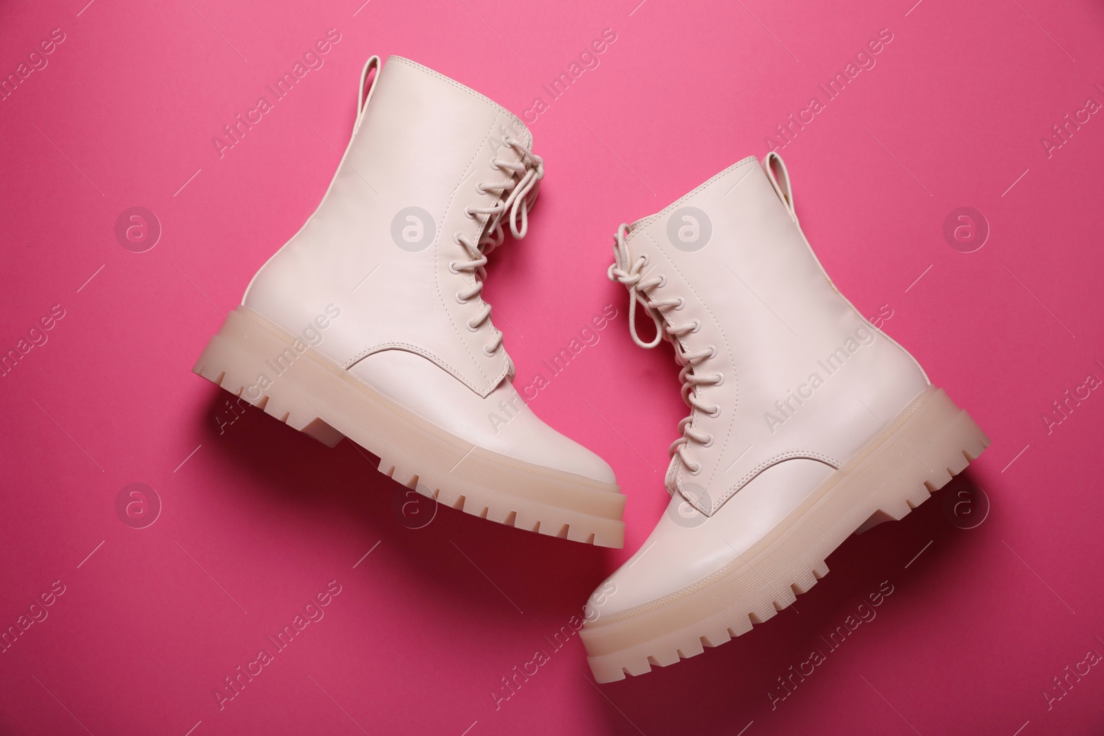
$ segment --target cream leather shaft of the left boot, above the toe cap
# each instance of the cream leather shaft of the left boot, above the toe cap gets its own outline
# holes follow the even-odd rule
[[[408,350],[487,395],[512,364],[505,350],[486,351],[489,320],[469,327],[482,302],[461,303],[457,294],[475,275],[450,264],[470,259],[457,238],[476,243],[487,227],[470,211],[506,195],[493,186],[512,172],[493,161],[519,162],[509,137],[532,142],[490,99],[390,57],[321,204],[257,273],[243,303],[293,331],[333,303],[341,317],[316,350],[339,365]]]

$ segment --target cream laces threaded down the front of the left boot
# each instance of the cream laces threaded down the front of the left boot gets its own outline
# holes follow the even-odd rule
[[[454,260],[448,264],[448,268],[454,274],[466,271],[475,277],[475,286],[467,291],[457,291],[456,299],[460,303],[479,296],[482,292],[484,279],[487,277],[485,266],[487,256],[506,239],[506,231],[502,227],[503,221],[510,225],[510,234],[521,239],[529,232],[529,210],[537,201],[540,193],[540,182],[544,178],[544,160],[526,148],[521,141],[513,138],[506,138],[503,142],[516,150],[519,161],[502,161],[492,159],[491,167],[495,169],[506,169],[510,172],[510,179],[498,184],[479,183],[477,190],[480,194],[488,192],[498,193],[499,199],[489,207],[465,207],[464,214],[468,217],[482,215],[487,218],[487,225],[482,230],[482,235],[478,243],[473,243],[466,235],[457,233],[454,237],[456,243],[463,245],[468,253],[470,260]],[[503,196],[505,195],[505,196]],[[491,307],[484,302],[482,311],[467,322],[467,327],[473,332],[490,317]],[[493,324],[491,326],[491,342],[484,345],[485,355],[493,355],[495,351],[502,344],[502,332]]]

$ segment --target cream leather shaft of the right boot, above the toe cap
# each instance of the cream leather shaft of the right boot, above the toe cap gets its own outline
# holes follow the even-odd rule
[[[776,167],[749,158],[719,173],[633,224],[618,257],[625,270],[647,256],[639,286],[655,284],[647,296],[677,354],[712,352],[683,370],[703,382],[683,393],[690,434],[712,439],[687,442],[691,467],[676,457],[668,474],[705,514],[776,462],[839,467],[927,385],[828,279]]]

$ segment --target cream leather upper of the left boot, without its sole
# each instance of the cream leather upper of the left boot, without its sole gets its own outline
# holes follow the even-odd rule
[[[362,96],[375,63],[364,67]],[[473,445],[613,484],[604,460],[521,401],[500,333],[479,323],[478,271],[456,267],[473,263],[458,238],[480,241],[487,218],[477,211],[505,201],[513,190],[495,186],[517,180],[509,164],[526,164],[508,138],[532,145],[499,105],[390,57],[321,204],[243,303],[296,334],[332,305],[340,318],[312,349],[361,382]]]

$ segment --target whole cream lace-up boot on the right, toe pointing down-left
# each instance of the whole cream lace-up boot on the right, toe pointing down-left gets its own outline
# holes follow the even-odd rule
[[[745,159],[622,225],[611,278],[670,340],[690,415],[667,512],[591,597],[598,682],[740,636],[828,573],[852,532],[901,519],[989,439],[832,286],[782,159]],[[633,326],[633,316],[629,316]]]

